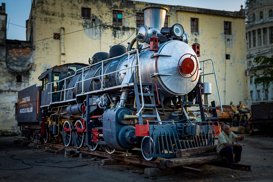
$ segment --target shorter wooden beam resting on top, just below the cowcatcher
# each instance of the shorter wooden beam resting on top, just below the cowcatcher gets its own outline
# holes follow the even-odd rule
[[[216,152],[216,145],[208,145],[203,147],[194,147],[194,148],[177,150],[176,157],[178,158],[190,157],[190,156],[196,156],[196,155],[201,155],[201,154],[210,153],[210,152]]]

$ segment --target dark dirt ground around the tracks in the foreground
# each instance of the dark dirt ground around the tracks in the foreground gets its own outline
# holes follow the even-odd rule
[[[241,163],[251,172],[215,167],[202,177],[175,174],[147,177],[145,166],[130,164],[101,165],[101,160],[64,157],[44,149],[14,144],[22,137],[0,137],[0,181],[273,181],[273,138],[248,136]],[[102,158],[101,158],[102,159]],[[84,166],[83,166],[84,165]],[[55,167],[59,166],[59,167]],[[61,166],[61,167],[60,167]]]

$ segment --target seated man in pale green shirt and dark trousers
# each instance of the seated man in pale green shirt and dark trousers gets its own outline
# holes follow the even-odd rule
[[[217,144],[217,153],[221,156],[227,157],[228,163],[236,163],[241,160],[242,146],[237,144],[232,144],[233,139],[243,140],[244,134],[242,136],[235,135],[228,125],[223,126],[222,133],[218,136],[218,144]],[[235,157],[234,157],[235,153]],[[234,166],[231,165],[231,168]]]

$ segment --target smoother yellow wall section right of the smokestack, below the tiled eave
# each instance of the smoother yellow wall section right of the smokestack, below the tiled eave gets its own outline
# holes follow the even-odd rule
[[[237,105],[240,100],[244,103],[245,20],[182,11],[178,12],[177,17],[177,23],[183,25],[185,32],[190,37],[188,45],[195,42],[201,44],[199,61],[206,59],[214,61],[222,104],[228,105],[232,101],[234,105]],[[190,32],[190,18],[198,18],[199,32]],[[224,21],[231,22],[231,35],[224,34]],[[225,59],[226,54],[230,55],[230,59]],[[203,69],[203,63],[200,66]],[[205,74],[213,72],[211,62],[205,62],[205,69],[202,72]],[[205,82],[211,82],[212,88],[214,88],[209,99],[215,99],[216,105],[219,105],[214,75],[204,76],[204,79]]]

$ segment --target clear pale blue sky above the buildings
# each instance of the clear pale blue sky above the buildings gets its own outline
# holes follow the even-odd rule
[[[57,0],[56,0],[57,1]],[[181,5],[197,8],[207,8],[225,11],[239,11],[245,0],[141,0],[158,4]],[[6,3],[7,18],[7,39],[26,40],[25,21],[29,19],[29,12],[32,0],[2,0]],[[167,3],[166,3],[167,2]],[[244,7],[243,7],[244,8]],[[8,23],[9,22],[9,23]],[[16,25],[12,25],[16,24]],[[20,25],[20,26],[17,26]]]

